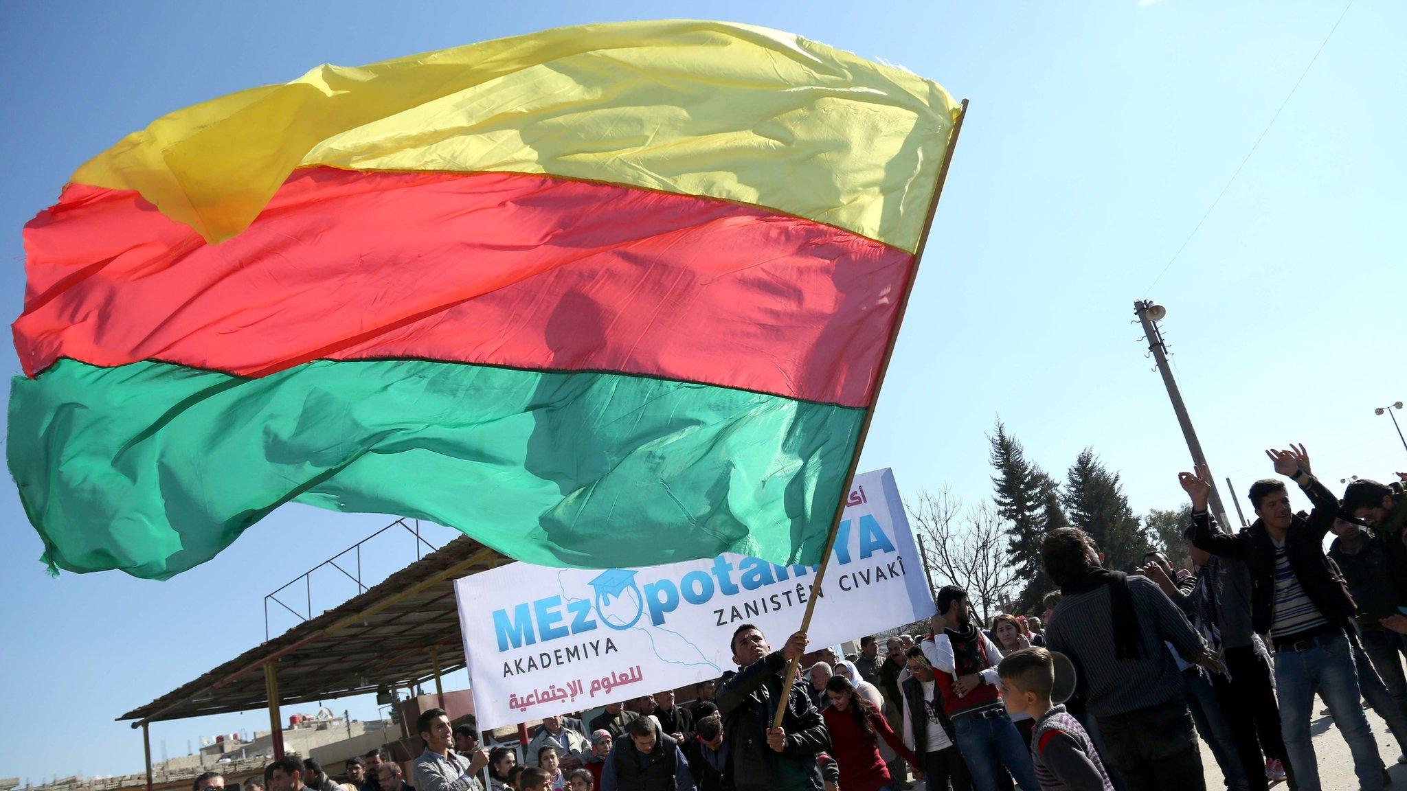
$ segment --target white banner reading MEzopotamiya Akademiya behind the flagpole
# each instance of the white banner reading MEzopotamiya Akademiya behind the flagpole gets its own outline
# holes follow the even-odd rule
[[[456,580],[478,726],[716,678],[736,669],[729,639],[743,624],[781,647],[801,625],[815,571],[720,555],[646,569],[511,563]],[[933,609],[893,473],[855,476],[810,645],[854,640]]]

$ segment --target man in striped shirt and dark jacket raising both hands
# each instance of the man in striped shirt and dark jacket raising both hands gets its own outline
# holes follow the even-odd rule
[[[1383,761],[1363,716],[1349,646],[1354,598],[1324,555],[1338,498],[1310,474],[1304,446],[1265,453],[1276,473],[1299,484],[1314,511],[1309,517],[1296,514],[1283,481],[1258,480],[1249,491],[1255,524],[1237,535],[1224,533],[1207,512],[1211,474],[1199,466],[1178,474],[1192,500],[1192,542],[1211,555],[1242,560],[1251,571],[1251,625],[1256,632],[1269,632],[1275,643],[1280,732],[1300,791],[1323,788],[1310,735],[1316,692],[1348,742],[1359,788],[1379,791]]]

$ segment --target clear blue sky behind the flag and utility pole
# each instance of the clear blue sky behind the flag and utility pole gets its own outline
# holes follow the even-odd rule
[[[885,8],[879,11],[875,8]],[[0,301],[18,315],[21,225],[89,156],[158,115],[322,63],[357,65],[546,27],[713,17],[905,65],[972,99],[864,467],[902,490],[991,490],[1000,415],[1064,477],[1086,445],[1135,510],[1180,504],[1186,466],[1130,325],[1249,151],[1342,3],[4,3]],[[1361,0],[1255,156],[1150,294],[1214,473],[1244,490],[1262,449],[1317,472],[1407,469],[1386,417],[1407,248],[1407,6]],[[7,376],[18,373],[4,355]],[[6,379],[8,388],[8,379]],[[169,583],[49,578],[0,487],[0,777],[136,771],[113,718],[263,638],[262,597],[386,522],[288,507]],[[322,602],[332,604],[331,601]],[[284,624],[287,625],[287,624]],[[374,705],[350,704],[370,715]],[[336,705],[343,708],[342,704]],[[187,739],[263,711],[160,723]]]

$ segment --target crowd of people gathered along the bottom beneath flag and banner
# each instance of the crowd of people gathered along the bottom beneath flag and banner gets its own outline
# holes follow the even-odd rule
[[[352,788],[288,759],[270,766],[266,784],[899,791],[912,771],[933,791],[1203,791],[1204,742],[1227,788],[1320,791],[1318,695],[1358,787],[1377,791],[1390,777],[1363,701],[1407,763],[1407,488],[1355,480],[1338,498],[1303,448],[1268,455],[1313,511],[1293,510],[1285,480],[1259,480],[1255,524],[1231,533],[1209,512],[1207,470],[1180,473],[1190,569],[1162,552],[1127,573],[1104,569],[1088,533],[1058,528],[1041,548],[1058,590],[1038,616],[982,625],[968,594],[947,586],[926,633],[888,638],[884,654],[867,636],[850,657],[808,654],[803,632],[774,649],[743,625],[730,643],[737,670],[699,684],[691,704],[666,691],[612,704],[588,723],[550,716],[523,746],[523,766],[514,749],[480,747],[473,723],[456,730],[431,709],[416,722],[425,752],[414,788],[380,754],[348,764]],[[207,790],[197,781],[196,791]]]

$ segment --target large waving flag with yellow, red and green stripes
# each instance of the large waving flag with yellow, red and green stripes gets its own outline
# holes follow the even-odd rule
[[[8,464],[45,560],[165,578],[298,501],[532,563],[813,563],[957,113],[661,21],[165,115],[25,227]]]

